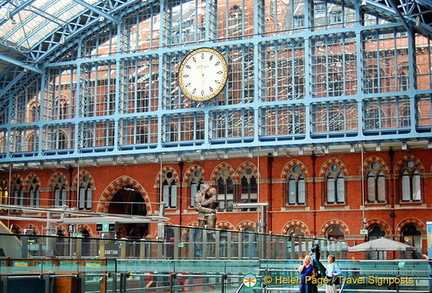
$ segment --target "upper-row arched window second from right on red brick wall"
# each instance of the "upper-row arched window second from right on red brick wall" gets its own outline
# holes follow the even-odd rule
[[[382,166],[378,162],[373,162],[366,170],[366,174],[367,201],[369,203],[385,202],[386,185]]]

